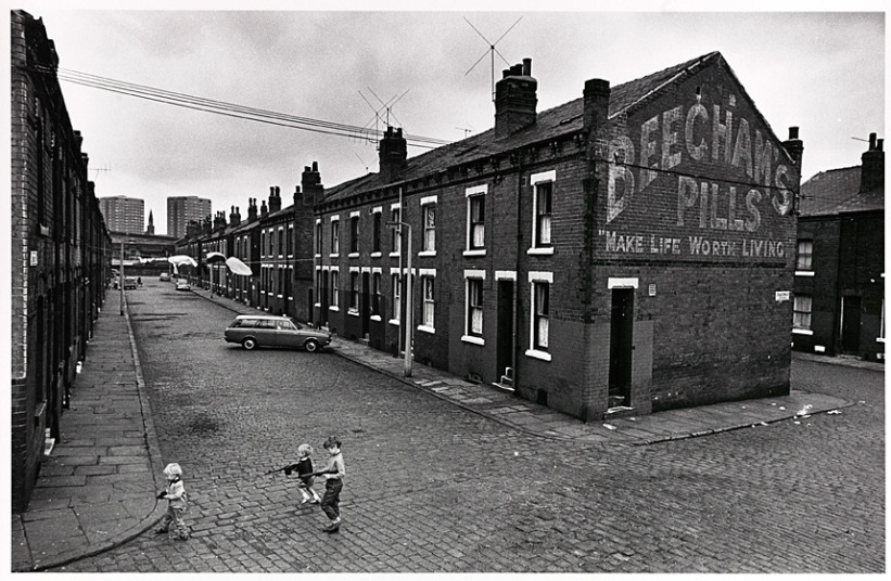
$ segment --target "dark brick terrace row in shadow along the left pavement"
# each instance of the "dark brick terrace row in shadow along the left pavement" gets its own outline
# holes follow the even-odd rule
[[[116,249],[41,18],[11,11],[10,413],[12,511],[27,509],[44,451],[64,435],[77,363]]]

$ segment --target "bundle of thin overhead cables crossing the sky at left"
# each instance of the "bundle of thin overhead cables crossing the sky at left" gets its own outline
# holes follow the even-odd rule
[[[203,111],[205,113],[214,113],[216,115],[225,115],[239,119],[247,119],[252,121],[259,121],[269,125],[277,125],[281,127],[290,127],[293,129],[302,129],[305,131],[314,131],[317,133],[326,133],[331,135],[359,138],[359,139],[380,139],[382,132],[378,129],[370,129],[367,127],[357,127],[345,124],[338,124],[333,121],[326,121],[322,119],[314,119],[311,117],[300,117],[296,115],[288,115],[268,109],[256,107],[247,107],[234,103],[227,103],[225,101],[215,101],[201,96],[190,95],[186,93],[177,93],[166,91],[164,89],[156,89],[144,85],[136,85],[107,77],[100,77],[90,75],[88,73],[80,73],[71,69],[51,69],[48,67],[38,67],[38,70],[47,74],[55,74],[59,80],[90,87],[93,89],[101,89],[128,96],[136,96],[168,105],[176,105],[179,107],[191,108],[195,111]],[[435,149],[440,145],[451,143],[450,141],[427,138],[422,135],[413,135],[404,133],[403,135],[409,145],[416,147]]]

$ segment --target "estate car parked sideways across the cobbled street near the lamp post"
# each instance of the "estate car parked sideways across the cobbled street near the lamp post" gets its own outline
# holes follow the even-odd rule
[[[228,343],[239,343],[249,351],[257,347],[302,347],[310,353],[331,343],[331,333],[294,322],[288,317],[240,314],[226,328]]]

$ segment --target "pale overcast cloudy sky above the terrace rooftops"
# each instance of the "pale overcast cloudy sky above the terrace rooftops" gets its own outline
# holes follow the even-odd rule
[[[115,8],[128,4],[151,9]],[[880,2],[546,4],[456,0],[423,12],[373,0],[326,3],[333,7],[327,12],[271,0],[12,7],[43,18],[68,78],[88,74],[300,117],[302,127],[317,120],[383,129],[389,114],[411,135],[456,141],[494,125],[493,54],[496,80],[509,64],[532,59],[540,112],[581,96],[587,79],[616,86],[716,50],[780,139],[800,127],[805,179],[858,165],[869,133],[884,138]],[[634,12],[604,11],[616,9]],[[228,216],[238,206],[245,216],[247,198],[266,199],[271,185],[289,205],[313,162],[327,186],[378,169],[373,140],[358,132],[329,134],[61,85],[97,196],[144,199],[157,234],[167,232],[167,196],[207,197],[214,212]],[[425,151],[410,146],[409,156]]]

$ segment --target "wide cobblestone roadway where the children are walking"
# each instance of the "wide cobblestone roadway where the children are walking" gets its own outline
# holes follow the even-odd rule
[[[883,374],[795,360],[841,413],[652,446],[539,438],[330,352],[245,351],[169,284],[130,314],[193,537],[151,531],[54,571],[883,572]],[[343,526],[264,475],[343,441]],[[316,485],[321,493],[322,485]]]

